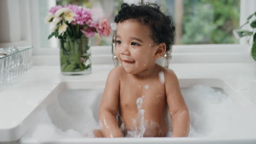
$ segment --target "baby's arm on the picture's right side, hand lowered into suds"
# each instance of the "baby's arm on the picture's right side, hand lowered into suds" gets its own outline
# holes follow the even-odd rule
[[[178,79],[171,70],[167,70],[165,73],[165,89],[172,119],[172,137],[188,136],[190,129],[188,107],[179,88]]]

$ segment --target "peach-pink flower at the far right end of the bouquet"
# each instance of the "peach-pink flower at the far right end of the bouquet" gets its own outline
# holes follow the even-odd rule
[[[111,32],[111,27],[109,25],[109,21],[106,17],[100,19],[98,22],[97,31],[100,35],[108,36]]]

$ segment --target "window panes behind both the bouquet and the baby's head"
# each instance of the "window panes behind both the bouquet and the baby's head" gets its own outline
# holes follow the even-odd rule
[[[136,3],[138,1],[123,0],[55,0],[38,1],[40,17],[40,47],[57,47],[57,39],[47,39],[49,26],[43,23],[48,9],[54,5],[76,4],[85,8],[97,7],[114,21],[120,4],[123,2]],[[170,14],[176,25],[176,45],[189,44],[238,44],[239,41],[232,34],[240,22],[240,0],[155,0],[164,13]],[[112,43],[112,34],[102,37],[98,34],[91,38],[91,45],[106,45]]]

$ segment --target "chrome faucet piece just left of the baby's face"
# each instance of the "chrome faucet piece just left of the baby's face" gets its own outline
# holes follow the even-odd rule
[[[118,67],[120,64],[117,56],[115,55],[115,46],[117,44],[117,23],[111,23],[111,29],[114,32],[112,37],[112,60],[114,61],[115,67]]]

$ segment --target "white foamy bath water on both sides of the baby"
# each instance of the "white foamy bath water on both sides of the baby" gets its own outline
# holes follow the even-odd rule
[[[32,137],[45,141],[94,137],[92,130],[100,129],[97,119],[102,93],[103,89],[63,91],[52,104],[38,113],[37,123],[22,139]],[[256,136],[256,112],[245,109],[222,89],[194,86],[182,88],[182,94],[190,113],[190,137]],[[142,103],[141,97],[137,100],[138,110],[141,111],[138,117],[143,119]],[[138,133],[130,132],[130,135],[137,137]]]

